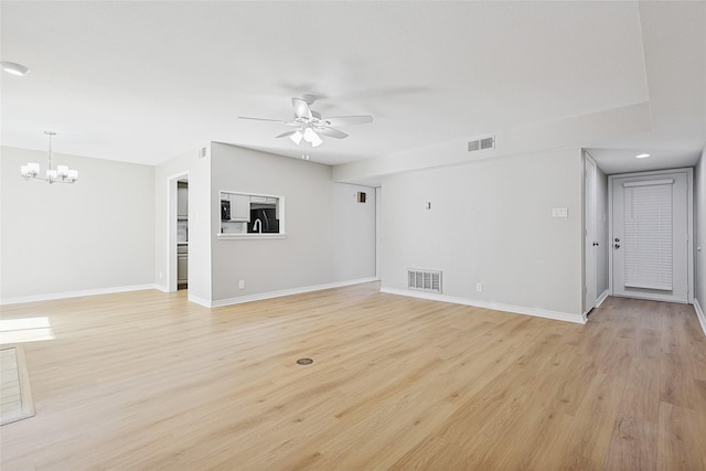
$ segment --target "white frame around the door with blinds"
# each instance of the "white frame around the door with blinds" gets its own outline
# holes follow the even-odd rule
[[[608,243],[613,239],[613,180],[633,176],[667,176],[673,173],[686,173],[686,274],[687,303],[694,303],[694,169],[667,169],[650,172],[617,173],[608,176]],[[608,250],[608,293],[613,296],[613,250]],[[654,299],[650,296],[634,296],[637,299]],[[670,301],[678,302],[678,301]]]

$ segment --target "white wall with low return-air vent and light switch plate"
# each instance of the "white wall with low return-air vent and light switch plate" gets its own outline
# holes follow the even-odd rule
[[[383,289],[435,269],[447,297],[580,319],[581,179],[580,149],[384,178]]]

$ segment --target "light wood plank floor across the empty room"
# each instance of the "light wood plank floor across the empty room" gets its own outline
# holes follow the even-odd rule
[[[2,317],[47,317],[55,336],[24,343],[36,416],[0,429],[2,470],[706,469],[691,306],[609,298],[579,325],[367,283]]]

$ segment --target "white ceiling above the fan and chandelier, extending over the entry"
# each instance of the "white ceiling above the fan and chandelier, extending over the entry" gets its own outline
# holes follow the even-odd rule
[[[291,97],[373,115],[311,160],[383,158],[649,103],[590,136],[607,173],[693,165],[706,144],[706,2],[2,1],[2,143],[157,164],[207,141],[284,156]],[[634,154],[650,152],[637,161]]]

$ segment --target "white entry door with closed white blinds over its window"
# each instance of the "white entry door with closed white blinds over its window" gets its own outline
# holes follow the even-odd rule
[[[688,302],[686,173],[612,180],[614,296]]]

